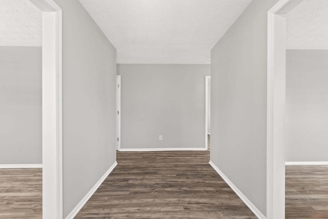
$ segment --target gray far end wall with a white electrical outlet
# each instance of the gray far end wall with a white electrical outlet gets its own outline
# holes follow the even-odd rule
[[[209,65],[119,64],[117,74],[121,75],[121,148],[205,147]]]

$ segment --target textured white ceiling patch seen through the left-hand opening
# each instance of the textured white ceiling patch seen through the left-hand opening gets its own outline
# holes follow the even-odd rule
[[[42,12],[29,0],[0,0],[0,46],[42,46]]]

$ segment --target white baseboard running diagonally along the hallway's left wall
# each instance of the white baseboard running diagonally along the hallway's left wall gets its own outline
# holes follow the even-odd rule
[[[65,217],[65,219],[73,219],[76,214],[81,210],[81,208],[88,202],[89,198],[93,195],[93,193],[98,189],[101,183],[107,178],[107,176],[113,171],[116,167],[117,162],[106,171],[106,173],[101,176],[100,180],[90,189],[90,191],[82,198],[82,200],[75,206],[75,208]]]

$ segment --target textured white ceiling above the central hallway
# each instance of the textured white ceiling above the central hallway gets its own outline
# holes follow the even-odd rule
[[[79,0],[117,63],[205,64],[252,0]]]

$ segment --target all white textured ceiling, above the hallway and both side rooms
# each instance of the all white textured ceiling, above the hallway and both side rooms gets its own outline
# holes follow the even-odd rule
[[[79,0],[117,49],[117,63],[204,64],[252,0]],[[328,49],[328,0],[287,16],[288,49]],[[0,1],[0,46],[41,46],[42,14],[29,0]]]

